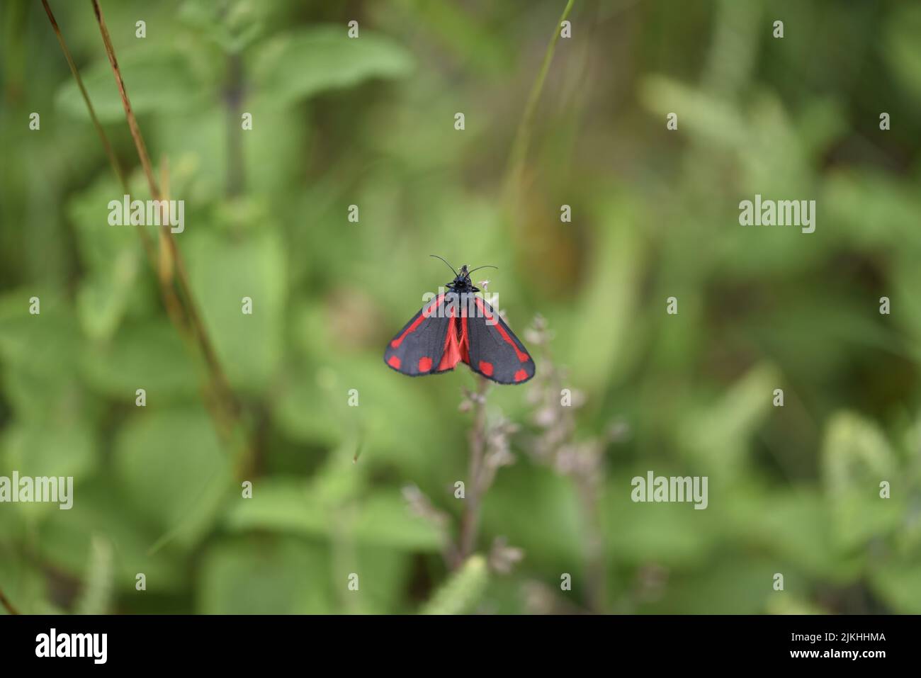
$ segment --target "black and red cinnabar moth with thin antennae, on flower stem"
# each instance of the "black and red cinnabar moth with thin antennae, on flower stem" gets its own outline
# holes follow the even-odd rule
[[[391,339],[384,362],[410,377],[448,372],[462,361],[500,384],[530,380],[534,361],[528,349],[493,307],[475,294],[480,290],[470,275],[479,269],[468,271],[464,265],[458,273],[448,265],[456,276],[445,286],[448,291],[429,301]]]

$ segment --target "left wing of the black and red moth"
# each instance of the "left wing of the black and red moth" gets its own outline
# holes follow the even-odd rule
[[[410,377],[453,369],[461,359],[456,297],[440,294],[422,307],[391,339],[384,362]]]

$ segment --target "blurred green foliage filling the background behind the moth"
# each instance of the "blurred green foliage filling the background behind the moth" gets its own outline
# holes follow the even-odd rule
[[[92,9],[51,4],[146,199]],[[76,479],[69,511],[0,505],[0,588],[22,611],[921,613],[921,7],[578,0],[509,208],[508,153],[563,5],[103,3],[243,403],[244,499],[201,360],[134,229],[107,224],[122,192],[47,18],[4,3],[0,475]],[[740,227],[755,193],[816,200],[815,233]],[[517,461],[453,572],[474,381],[380,359],[449,279],[430,252],[499,266],[490,291],[522,337],[547,319],[538,373],[552,360],[585,396],[565,444],[596,441],[604,461],[587,509],[535,461],[540,385],[493,388]],[[614,421],[628,437],[606,437]],[[708,476],[708,508],[633,503],[650,469]],[[500,536],[524,554],[510,571],[489,555]]]

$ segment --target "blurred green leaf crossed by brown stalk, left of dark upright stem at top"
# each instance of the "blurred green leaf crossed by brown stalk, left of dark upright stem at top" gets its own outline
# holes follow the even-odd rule
[[[124,51],[118,57],[135,115],[192,111],[202,106],[210,94],[209,88],[192,73],[191,60],[181,53],[159,47],[157,50]],[[99,121],[123,122],[122,98],[108,59],[92,64],[81,76]],[[58,88],[54,102],[59,111],[79,120],[89,120],[87,104],[73,78],[68,77]]]

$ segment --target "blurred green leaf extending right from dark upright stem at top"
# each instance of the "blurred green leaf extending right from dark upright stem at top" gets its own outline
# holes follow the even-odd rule
[[[312,27],[260,45],[252,75],[259,84],[257,96],[284,106],[327,89],[412,72],[412,54],[398,42],[365,30],[350,40],[346,31],[344,26]]]

